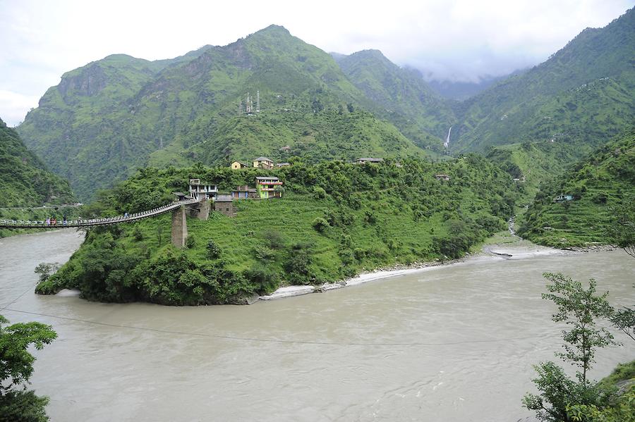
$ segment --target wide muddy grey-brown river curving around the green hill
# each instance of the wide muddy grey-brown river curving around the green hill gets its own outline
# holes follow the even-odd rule
[[[59,334],[34,351],[31,385],[51,397],[52,421],[514,422],[531,416],[532,364],[560,350],[543,271],[635,303],[622,251],[480,257],[252,306],[33,294],[37,263],[66,261],[80,242],[73,230],[0,240],[1,313]],[[591,376],[635,359],[617,337]]]

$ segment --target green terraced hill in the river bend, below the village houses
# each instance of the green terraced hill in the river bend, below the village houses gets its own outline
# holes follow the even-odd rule
[[[188,219],[183,250],[170,245],[170,216],[88,232],[40,292],[76,287],[83,297],[160,304],[239,302],[285,284],[321,284],[363,269],[452,259],[505,227],[516,185],[483,157],[400,165],[337,161],[265,172],[284,181],[282,199],[234,201],[234,218]],[[437,180],[435,174],[449,175]],[[148,168],[102,195],[92,212],[150,209],[186,190],[189,178],[227,191],[262,170]],[[149,193],[150,192],[150,193]]]

